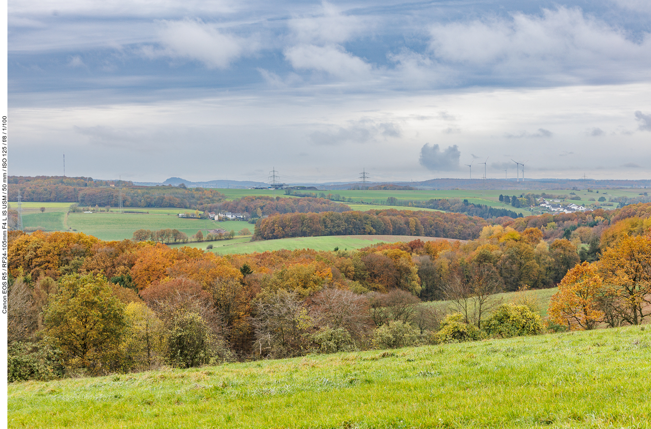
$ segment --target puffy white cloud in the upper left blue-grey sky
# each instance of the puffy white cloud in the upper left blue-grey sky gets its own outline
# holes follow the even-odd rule
[[[143,47],[146,57],[171,57],[202,62],[208,68],[228,68],[247,51],[255,50],[251,40],[224,33],[201,20],[160,21],[162,49]]]

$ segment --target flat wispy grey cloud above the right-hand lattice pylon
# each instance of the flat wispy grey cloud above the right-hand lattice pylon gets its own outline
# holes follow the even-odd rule
[[[336,130],[314,131],[310,134],[312,143],[316,145],[339,145],[341,143],[367,143],[376,137],[401,137],[402,130],[393,122],[375,122],[360,120],[347,127]]]

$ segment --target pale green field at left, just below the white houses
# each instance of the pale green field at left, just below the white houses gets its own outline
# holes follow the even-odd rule
[[[68,226],[100,238],[101,240],[124,240],[133,237],[133,231],[137,229],[159,230],[165,228],[178,229],[192,236],[198,230],[210,230],[224,228],[234,229],[238,232],[242,228],[249,228],[253,232],[253,225],[240,221],[225,221],[216,223],[210,219],[180,219],[174,214],[131,214],[131,213],[106,213],[93,214],[70,213],[68,214]]]

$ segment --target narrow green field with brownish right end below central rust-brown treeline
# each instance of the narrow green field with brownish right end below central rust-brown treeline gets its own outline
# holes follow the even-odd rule
[[[395,243],[411,242],[420,238],[423,241],[430,240],[449,240],[448,238],[434,237],[416,237],[416,236],[322,236],[322,237],[296,237],[296,238],[279,238],[278,240],[262,240],[259,242],[250,242],[234,245],[225,245],[223,247],[215,246],[213,251],[219,255],[230,255],[233,253],[253,253],[266,252],[274,250],[295,250],[295,249],[314,249],[314,250],[334,250],[339,249],[361,249],[377,243]],[[459,240],[464,242],[464,240]]]

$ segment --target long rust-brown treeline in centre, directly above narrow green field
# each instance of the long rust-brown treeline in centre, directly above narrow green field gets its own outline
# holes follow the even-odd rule
[[[256,223],[254,239],[338,235],[406,235],[473,240],[488,225],[480,217],[411,210],[273,215]]]

